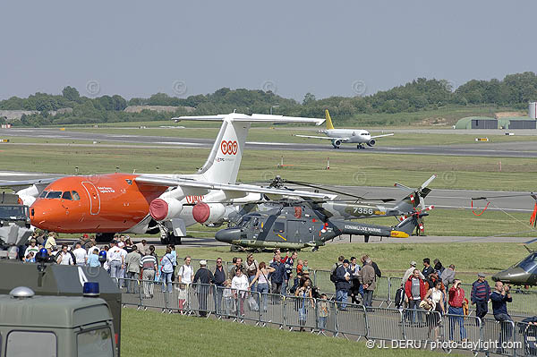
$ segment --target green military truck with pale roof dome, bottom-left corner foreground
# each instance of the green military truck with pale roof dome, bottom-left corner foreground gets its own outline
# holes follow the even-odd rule
[[[28,287],[0,295],[0,357],[116,357],[107,302],[39,296]]]

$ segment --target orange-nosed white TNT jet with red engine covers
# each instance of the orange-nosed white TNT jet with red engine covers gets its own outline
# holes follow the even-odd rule
[[[221,224],[227,217],[240,213],[236,205],[260,200],[260,194],[274,198],[326,200],[331,197],[310,191],[236,183],[251,123],[320,125],[323,119],[235,113],[176,119],[222,122],[209,157],[196,174],[66,176],[50,179],[51,183],[44,189],[46,180],[27,182],[32,186],[18,193],[24,204],[35,200],[30,207],[31,224],[57,233],[95,233],[102,242],[112,239],[116,233],[157,234],[160,231],[163,242],[180,243],[186,226],[196,222]],[[3,186],[23,184],[2,183]]]

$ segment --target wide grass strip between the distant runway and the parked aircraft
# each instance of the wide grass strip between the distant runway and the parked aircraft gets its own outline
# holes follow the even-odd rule
[[[46,153],[47,159],[36,153]],[[209,149],[148,149],[11,145],[0,147],[0,165],[18,171],[73,174],[122,172],[191,174],[209,155]],[[286,168],[279,169],[281,157]],[[326,160],[330,157],[330,170]],[[501,169],[499,172],[499,161]],[[17,163],[13,166],[13,163]],[[371,154],[366,152],[285,152],[247,150],[239,180],[260,182],[279,174],[294,180],[340,185],[391,186],[394,182],[416,187],[435,173],[431,188],[533,191],[537,172],[533,158],[444,157]]]

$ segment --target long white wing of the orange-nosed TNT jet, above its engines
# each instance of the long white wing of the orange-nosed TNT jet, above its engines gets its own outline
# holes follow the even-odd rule
[[[203,181],[188,180],[182,178],[170,178],[163,176],[153,175],[140,175],[134,179],[136,183],[149,184],[154,186],[182,186],[192,187],[205,190],[222,190],[222,191],[239,191],[239,192],[257,192],[265,193],[269,195],[283,195],[283,196],[299,196],[309,197],[312,199],[331,200],[331,196],[325,193],[316,193],[311,191],[298,191],[298,190],[283,190],[283,189],[271,189],[268,187],[260,187],[252,184],[230,184],[230,183],[207,183]]]

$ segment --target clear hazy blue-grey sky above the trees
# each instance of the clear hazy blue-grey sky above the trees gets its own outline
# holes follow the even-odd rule
[[[180,98],[222,87],[371,95],[415,78],[537,71],[537,2],[4,2],[0,99],[37,91]]]

